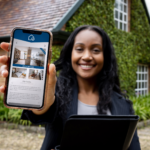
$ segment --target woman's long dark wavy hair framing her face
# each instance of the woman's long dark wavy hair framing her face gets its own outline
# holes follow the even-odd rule
[[[76,28],[66,41],[59,59],[54,63],[59,72],[57,80],[56,96],[59,99],[59,113],[64,115],[69,109],[69,103],[72,101],[72,85],[77,82],[76,73],[71,65],[71,53],[76,35],[82,30],[92,30],[97,32],[103,41],[104,65],[98,74],[99,101],[97,111],[99,114],[106,114],[111,107],[111,94],[113,91],[123,95],[120,90],[120,83],[117,70],[117,62],[114,54],[114,48],[108,35],[98,26],[84,25]]]

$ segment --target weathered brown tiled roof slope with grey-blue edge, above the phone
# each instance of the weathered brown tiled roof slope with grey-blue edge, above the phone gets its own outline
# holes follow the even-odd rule
[[[59,31],[84,0],[0,0],[0,37],[16,27]]]

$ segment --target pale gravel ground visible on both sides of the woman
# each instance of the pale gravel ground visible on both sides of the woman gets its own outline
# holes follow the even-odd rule
[[[150,127],[138,130],[142,150],[150,150]],[[44,134],[0,128],[0,150],[40,150]]]

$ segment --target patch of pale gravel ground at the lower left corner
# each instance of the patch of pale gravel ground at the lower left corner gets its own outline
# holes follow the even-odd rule
[[[39,150],[44,135],[18,129],[0,129],[0,150]]]

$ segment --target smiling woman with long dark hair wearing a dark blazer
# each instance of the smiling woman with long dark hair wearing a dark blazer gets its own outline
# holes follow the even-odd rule
[[[2,43],[1,47],[7,50],[8,44]],[[3,64],[7,60],[0,57]],[[55,66],[50,65],[44,108],[24,110],[22,114],[22,119],[46,124],[42,150],[60,144],[63,126],[72,114],[133,114],[132,103],[120,90],[113,46],[101,28],[81,26],[75,29],[55,65],[60,74],[56,84]],[[7,77],[6,66],[2,66],[1,72]],[[4,92],[5,87],[0,91]],[[140,150],[137,132],[128,150]]]

